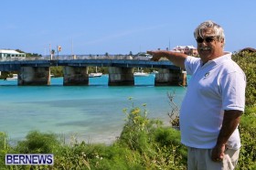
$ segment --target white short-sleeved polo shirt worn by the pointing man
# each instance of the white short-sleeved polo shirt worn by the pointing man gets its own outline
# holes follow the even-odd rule
[[[246,78],[231,59],[231,53],[209,60],[187,57],[187,94],[180,111],[181,143],[195,148],[211,149],[216,145],[224,110],[244,111]],[[230,149],[240,148],[236,129],[227,143]]]

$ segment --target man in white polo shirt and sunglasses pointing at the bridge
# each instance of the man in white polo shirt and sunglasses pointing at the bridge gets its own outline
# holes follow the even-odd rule
[[[238,125],[244,111],[246,78],[224,52],[223,28],[212,21],[194,32],[199,58],[148,51],[152,60],[168,58],[192,75],[180,110],[181,143],[187,145],[187,169],[234,169],[240,153]]]

